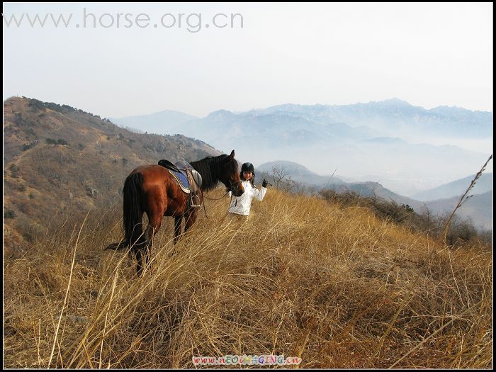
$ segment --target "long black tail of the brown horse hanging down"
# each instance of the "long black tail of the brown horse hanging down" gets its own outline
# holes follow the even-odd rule
[[[124,231],[125,244],[133,247],[133,251],[140,245],[142,239],[142,216],[140,207],[141,186],[143,175],[140,172],[130,174],[124,182]]]

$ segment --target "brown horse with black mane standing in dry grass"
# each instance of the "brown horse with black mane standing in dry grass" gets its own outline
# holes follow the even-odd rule
[[[235,159],[235,150],[230,155],[205,157],[191,166],[201,175],[201,201],[203,192],[213,190],[219,183],[235,196],[241,196],[244,188],[239,181],[239,171]],[[196,221],[198,209],[188,207],[188,194],[181,190],[176,179],[160,165],[142,165],[134,169],[125,179],[124,189],[124,231],[123,242],[109,245],[106,249],[123,249],[130,247],[136,255],[137,275],[142,274],[143,260],[145,265],[150,261],[153,237],[162,225],[164,216],[174,216],[174,244],[181,235],[181,224],[186,219],[184,232],[187,232]],[[148,226],[142,232],[143,213],[147,213]]]

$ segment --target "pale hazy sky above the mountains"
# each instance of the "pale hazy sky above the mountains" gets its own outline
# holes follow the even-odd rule
[[[492,3],[4,3],[3,13],[4,99],[103,117],[392,97],[492,111]],[[72,17],[31,27],[25,15],[17,27],[23,13]]]

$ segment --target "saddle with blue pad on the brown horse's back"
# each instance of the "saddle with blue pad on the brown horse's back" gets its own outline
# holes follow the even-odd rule
[[[201,203],[203,203],[201,174],[199,174],[191,164],[184,161],[179,161],[174,164],[169,162],[169,160],[162,159],[159,161],[159,165],[169,171],[184,193],[189,194],[188,208],[200,207]]]

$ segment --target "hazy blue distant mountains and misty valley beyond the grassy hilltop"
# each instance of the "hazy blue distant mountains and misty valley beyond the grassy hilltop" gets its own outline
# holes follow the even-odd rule
[[[164,111],[115,123],[158,133],[181,133],[243,162],[286,159],[317,174],[376,174],[395,192],[412,195],[480,169],[485,151],[439,145],[444,138],[492,139],[492,113],[441,106],[427,110],[393,98],[353,105],[285,104],[242,113],[214,111],[205,118]],[[434,145],[434,143],[436,145]],[[375,180],[373,180],[375,181]]]

